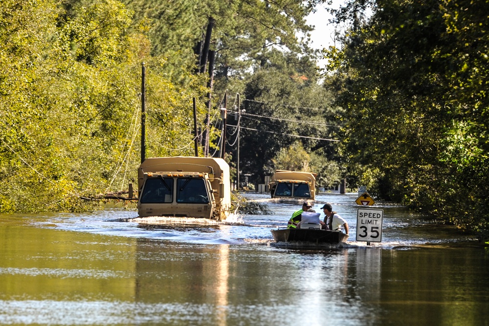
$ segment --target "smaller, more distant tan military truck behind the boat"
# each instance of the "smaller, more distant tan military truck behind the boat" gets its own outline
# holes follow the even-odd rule
[[[316,175],[311,172],[276,170],[268,183],[272,198],[315,199]]]

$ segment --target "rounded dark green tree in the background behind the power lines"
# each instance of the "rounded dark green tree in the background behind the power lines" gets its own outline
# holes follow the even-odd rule
[[[263,182],[273,172],[274,158],[281,149],[299,141],[306,152],[335,152],[330,140],[338,128],[329,124],[332,109],[323,87],[297,73],[262,69],[245,89],[242,115],[240,167],[251,182]],[[302,137],[305,136],[305,137]],[[333,158],[333,155],[331,156]]]

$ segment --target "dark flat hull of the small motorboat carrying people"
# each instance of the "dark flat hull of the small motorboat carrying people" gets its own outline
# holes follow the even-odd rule
[[[348,236],[341,231],[321,230],[318,228],[290,228],[271,230],[275,242],[302,241],[311,243],[346,242]]]

